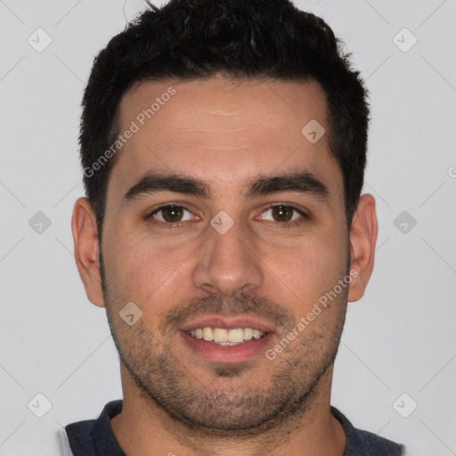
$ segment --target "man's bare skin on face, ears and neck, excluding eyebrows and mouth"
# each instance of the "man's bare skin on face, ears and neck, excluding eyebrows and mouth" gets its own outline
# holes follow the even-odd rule
[[[318,84],[144,82],[124,96],[119,132],[170,86],[175,94],[126,142],[111,171],[104,274],[88,201],[78,199],[73,214],[78,271],[90,301],[106,307],[122,358],[124,408],[111,420],[118,443],[129,456],[341,456],[346,436],[330,414],[333,363],[346,303],[362,297],[371,277],[375,201],[362,195],[348,232],[328,135],[312,143],[301,134],[311,119],[330,130]],[[297,172],[326,193],[249,194],[259,177]],[[210,194],[126,198],[151,173],[199,179]],[[159,211],[171,203],[184,210]],[[210,224],[220,211],[233,222],[223,234]],[[170,216],[180,217],[173,229]],[[297,331],[349,271],[350,285]],[[142,311],[133,326],[119,316],[128,302]],[[183,327],[213,315],[265,325],[266,345],[242,360],[208,358]],[[265,351],[293,328],[295,340],[268,359]]]

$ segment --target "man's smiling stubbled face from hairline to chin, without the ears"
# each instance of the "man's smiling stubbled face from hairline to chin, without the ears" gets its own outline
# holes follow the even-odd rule
[[[313,119],[329,131],[322,89],[145,82],[120,108],[119,132],[138,128],[110,175],[102,279],[129,375],[171,417],[218,432],[304,410],[348,292],[342,175],[328,135],[301,133]]]

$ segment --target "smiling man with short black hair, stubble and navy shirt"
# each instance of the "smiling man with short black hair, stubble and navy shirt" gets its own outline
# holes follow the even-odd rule
[[[377,219],[366,91],[328,25],[287,0],[151,7],[83,107],[75,256],[124,397],[67,426],[67,450],[402,454],[330,407]]]

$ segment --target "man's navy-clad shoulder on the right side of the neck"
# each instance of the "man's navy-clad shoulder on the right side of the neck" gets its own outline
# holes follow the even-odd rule
[[[346,433],[346,452],[344,456],[402,456],[404,446],[368,431],[356,429],[352,423],[335,407],[332,415],[340,421]]]

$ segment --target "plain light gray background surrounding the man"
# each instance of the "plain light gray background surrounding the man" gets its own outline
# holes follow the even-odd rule
[[[85,297],[69,224],[83,195],[85,81],[140,4],[0,0],[1,455],[49,455],[61,426],[121,397],[104,310]],[[378,203],[377,260],[365,297],[349,305],[332,403],[414,456],[456,454],[456,2],[297,4],[346,41],[371,91],[365,191]],[[37,28],[52,38],[42,52],[49,38]],[[38,393],[52,403],[43,418]]]

